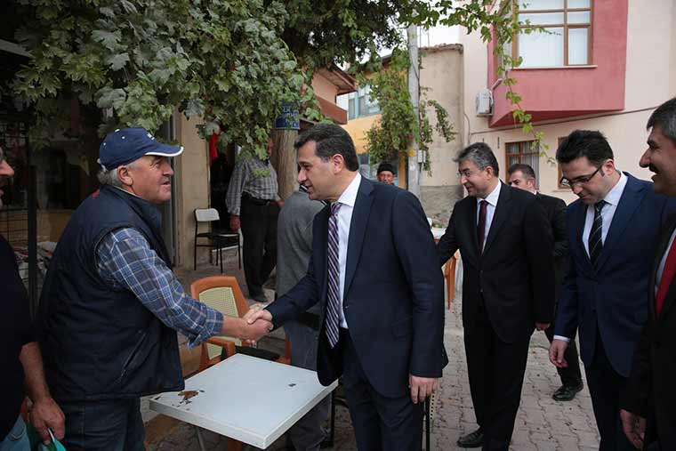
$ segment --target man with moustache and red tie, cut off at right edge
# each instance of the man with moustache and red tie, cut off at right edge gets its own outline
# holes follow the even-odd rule
[[[648,149],[641,167],[653,175],[653,189],[676,197],[676,99],[659,106],[648,119]],[[676,449],[676,216],[659,238],[648,283],[648,325],[634,355],[620,404],[624,433],[635,447]],[[646,424],[648,420],[648,424]]]

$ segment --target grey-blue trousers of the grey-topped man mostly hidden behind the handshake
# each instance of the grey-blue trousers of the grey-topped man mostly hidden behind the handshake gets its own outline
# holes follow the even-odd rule
[[[286,337],[291,342],[291,365],[313,371],[317,370],[318,330],[297,321],[284,325]],[[326,438],[324,422],[328,418],[331,397],[319,401],[289,430],[291,442],[296,451],[316,451]]]

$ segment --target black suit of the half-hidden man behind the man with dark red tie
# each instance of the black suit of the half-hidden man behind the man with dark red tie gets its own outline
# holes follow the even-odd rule
[[[561,284],[563,283],[563,273],[566,270],[568,260],[568,238],[566,234],[566,203],[559,197],[547,196],[537,193],[535,198],[543,205],[544,213],[547,213],[547,219],[551,225],[551,232],[554,236],[554,275],[556,277],[556,304],[559,302],[561,294]],[[554,339],[554,325],[548,327],[544,334],[551,343]],[[557,367],[556,370],[561,378],[561,383],[567,386],[578,386],[582,383],[582,374],[580,373],[580,358],[577,355],[577,346],[575,337],[568,342],[564,358],[568,363],[565,368]]]

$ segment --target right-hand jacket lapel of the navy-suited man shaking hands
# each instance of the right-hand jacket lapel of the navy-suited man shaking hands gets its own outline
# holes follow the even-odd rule
[[[373,181],[365,178],[361,179],[359,183],[359,190],[357,199],[355,200],[354,208],[352,209],[352,219],[350,221],[350,238],[348,239],[348,256],[345,263],[345,289],[342,292],[344,296],[349,293],[352,278],[354,278],[355,270],[357,270],[357,262],[361,255],[361,247],[364,243],[364,235],[366,234],[366,224],[368,223],[368,216],[371,212],[371,204],[373,204]]]

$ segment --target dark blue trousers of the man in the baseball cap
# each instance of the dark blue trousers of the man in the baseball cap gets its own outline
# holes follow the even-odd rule
[[[146,431],[141,399],[64,402],[68,451],[141,451]]]

